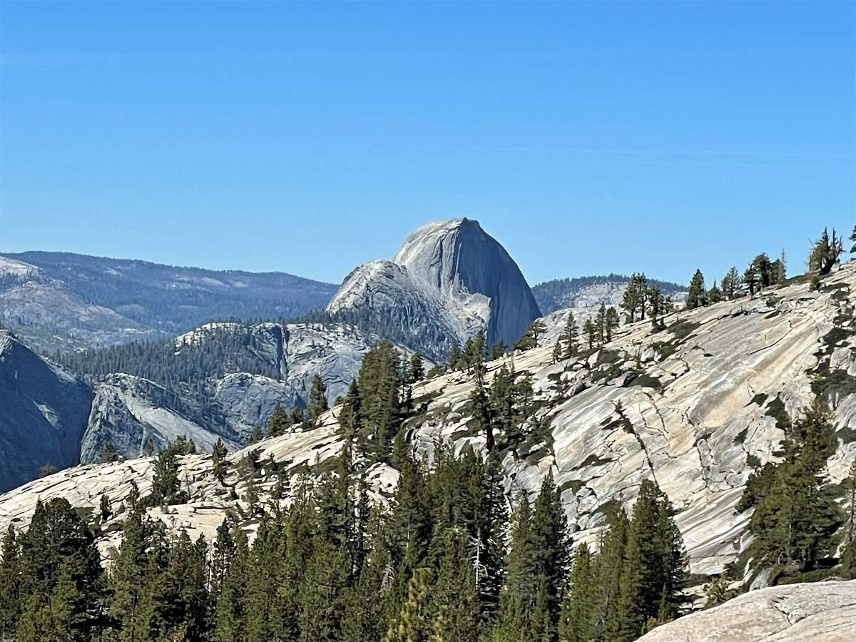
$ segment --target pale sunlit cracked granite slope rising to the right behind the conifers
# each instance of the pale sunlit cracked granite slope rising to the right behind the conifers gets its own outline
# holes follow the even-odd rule
[[[664,330],[653,330],[648,321],[622,327],[603,348],[558,363],[551,345],[490,362],[487,384],[501,366],[514,362],[533,389],[529,417],[520,426],[523,441],[496,436],[509,499],[521,491],[536,493],[551,471],[574,540],[596,542],[606,507],[629,509],[639,483],[656,479],[675,504],[691,569],[719,574],[750,540],[751,512],[737,513],[735,506],[752,470],[778,460],[783,413],[798,415],[821,395],[838,437],[828,461],[831,483],[841,483],[856,460],[854,307],[851,262],[825,277],[819,291],[810,290],[807,279],[796,279],[755,300],[673,313]],[[413,386],[419,414],[407,427],[420,456],[430,459],[438,438],[457,451],[484,449],[484,434],[470,416],[475,386],[466,372]],[[300,461],[324,461],[340,448],[338,411],[327,413],[315,431],[285,434],[253,448],[261,449],[262,460],[271,457],[292,470]],[[247,452],[235,453],[232,461]],[[211,499],[210,462],[208,468],[199,473],[191,502]],[[0,530],[10,519],[4,513],[26,523],[49,489],[80,498],[75,489],[97,487],[100,471],[61,473],[56,484],[39,480],[0,497]],[[371,475],[378,485],[395,480],[389,467],[373,468]],[[266,480],[272,486],[276,474]],[[239,485],[241,496],[237,473],[229,483]],[[241,502],[222,501],[222,514],[230,502]]]

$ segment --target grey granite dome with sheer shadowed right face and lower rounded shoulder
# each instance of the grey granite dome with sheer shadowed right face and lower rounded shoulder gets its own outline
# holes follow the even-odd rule
[[[428,223],[391,261],[360,265],[327,312],[367,320],[382,335],[399,330],[396,338],[435,356],[479,330],[510,345],[541,314],[514,259],[469,218]]]

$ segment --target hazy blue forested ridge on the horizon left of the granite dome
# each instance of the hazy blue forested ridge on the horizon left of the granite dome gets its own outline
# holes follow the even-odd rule
[[[0,323],[43,353],[175,336],[218,318],[294,318],[336,285],[74,253],[0,255]]]

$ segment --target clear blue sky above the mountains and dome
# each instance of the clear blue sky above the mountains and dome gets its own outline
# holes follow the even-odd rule
[[[856,4],[0,3],[0,250],[331,282],[479,219],[530,282],[856,223]]]

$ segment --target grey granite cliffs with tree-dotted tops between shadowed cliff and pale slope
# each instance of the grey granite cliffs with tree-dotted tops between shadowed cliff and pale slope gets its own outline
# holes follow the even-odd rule
[[[98,461],[105,441],[120,455],[138,457],[146,443],[157,451],[179,435],[192,438],[201,452],[210,453],[218,437],[233,449],[247,442],[255,426],[265,425],[277,403],[305,406],[316,374],[330,402],[344,395],[377,341],[344,324],[202,325],[165,347],[163,367],[192,371],[200,354],[226,345],[223,370],[173,377],[169,386],[130,374],[98,377],[80,461]],[[146,371],[145,363],[135,366]]]

